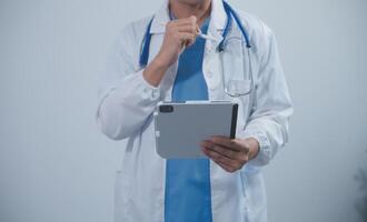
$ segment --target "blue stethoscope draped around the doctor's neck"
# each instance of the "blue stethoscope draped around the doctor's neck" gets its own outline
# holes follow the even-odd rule
[[[249,41],[248,33],[247,33],[245,27],[242,26],[238,14],[235,12],[235,10],[226,1],[222,1],[222,3],[224,3],[224,8],[225,8],[225,11],[226,11],[226,14],[227,14],[227,23],[226,23],[224,32],[222,32],[222,40],[220,41],[219,46],[217,47],[217,50],[220,53],[220,62],[221,62],[220,67],[221,67],[221,75],[224,78],[222,83],[224,83],[225,92],[229,97],[238,98],[238,97],[241,97],[241,95],[249,94],[254,89],[252,63],[251,63],[251,57],[250,57],[251,44],[250,44],[250,41]],[[245,84],[245,82],[238,82],[238,81],[237,82],[236,81],[230,82],[231,80],[229,80],[229,82],[231,84],[229,84],[229,87],[227,87],[225,74],[224,74],[225,70],[224,70],[224,65],[222,65],[224,64],[224,58],[222,57],[224,57],[224,52],[226,50],[226,39],[227,39],[227,37],[229,34],[229,31],[232,27],[232,18],[235,19],[235,21],[236,21],[237,26],[239,27],[239,29],[241,31],[241,34],[244,36],[245,41],[246,41],[246,51],[247,51],[248,64],[249,64],[248,65],[248,73],[250,73],[250,74],[249,74],[249,81],[245,81],[245,82],[247,82],[247,84]],[[151,27],[152,20],[153,20],[153,18],[150,20],[150,22],[147,27],[146,33],[145,33],[145,38],[142,40],[143,41],[142,42],[142,50],[140,52],[140,59],[139,59],[140,67],[146,67],[147,63],[148,63],[149,46],[150,46],[150,40],[151,40],[150,27]],[[245,70],[246,70],[245,61],[242,62],[242,64],[244,64],[244,72],[245,72]],[[244,73],[244,75],[245,75],[245,73]],[[241,83],[241,85],[239,85],[239,83]]]

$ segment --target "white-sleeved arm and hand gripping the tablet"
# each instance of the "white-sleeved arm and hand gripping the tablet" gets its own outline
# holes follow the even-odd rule
[[[292,105],[275,37],[267,27],[262,36],[258,42],[262,50],[248,124],[236,139],[217,135],[200,143],[202,152],[228,172],[266,165],[288,141]]]

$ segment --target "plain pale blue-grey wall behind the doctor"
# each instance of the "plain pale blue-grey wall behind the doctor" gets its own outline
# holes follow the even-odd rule
[[[112,221],[125,141],[97,129],[97,78],[120,28],[160,2],[0,1],[1,222]],[[367,2],[231,2],[276,33],[295,103],[290,142],[265,170],[269,221],[363,221]]]

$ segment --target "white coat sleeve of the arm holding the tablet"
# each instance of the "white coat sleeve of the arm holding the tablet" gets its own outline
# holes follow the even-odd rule
[[[260,149],[257,157],[245,164],[248,167],[268,164],[279,149],[288,142],[288,121],[294,112],[276,38],[265,24],[262,31],[254,107],[242,134],[242,138],[255,138]]]

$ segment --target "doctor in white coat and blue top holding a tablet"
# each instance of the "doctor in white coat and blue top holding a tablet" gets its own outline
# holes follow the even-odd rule
[[[227,87],[245,85],[244,75],[252,78],[251,91],[228,93]],[[161,100],[232,100],[237,138],[204,138],[207,159],[165,160],[152,122]],[[115,220],[267,221],[261,169],[288,141],[291,114],[276,39],[265,23],[222,0],[166,0],[122,29],[100,77],[97,123],[108,138],[128,139],[116,174]]]

